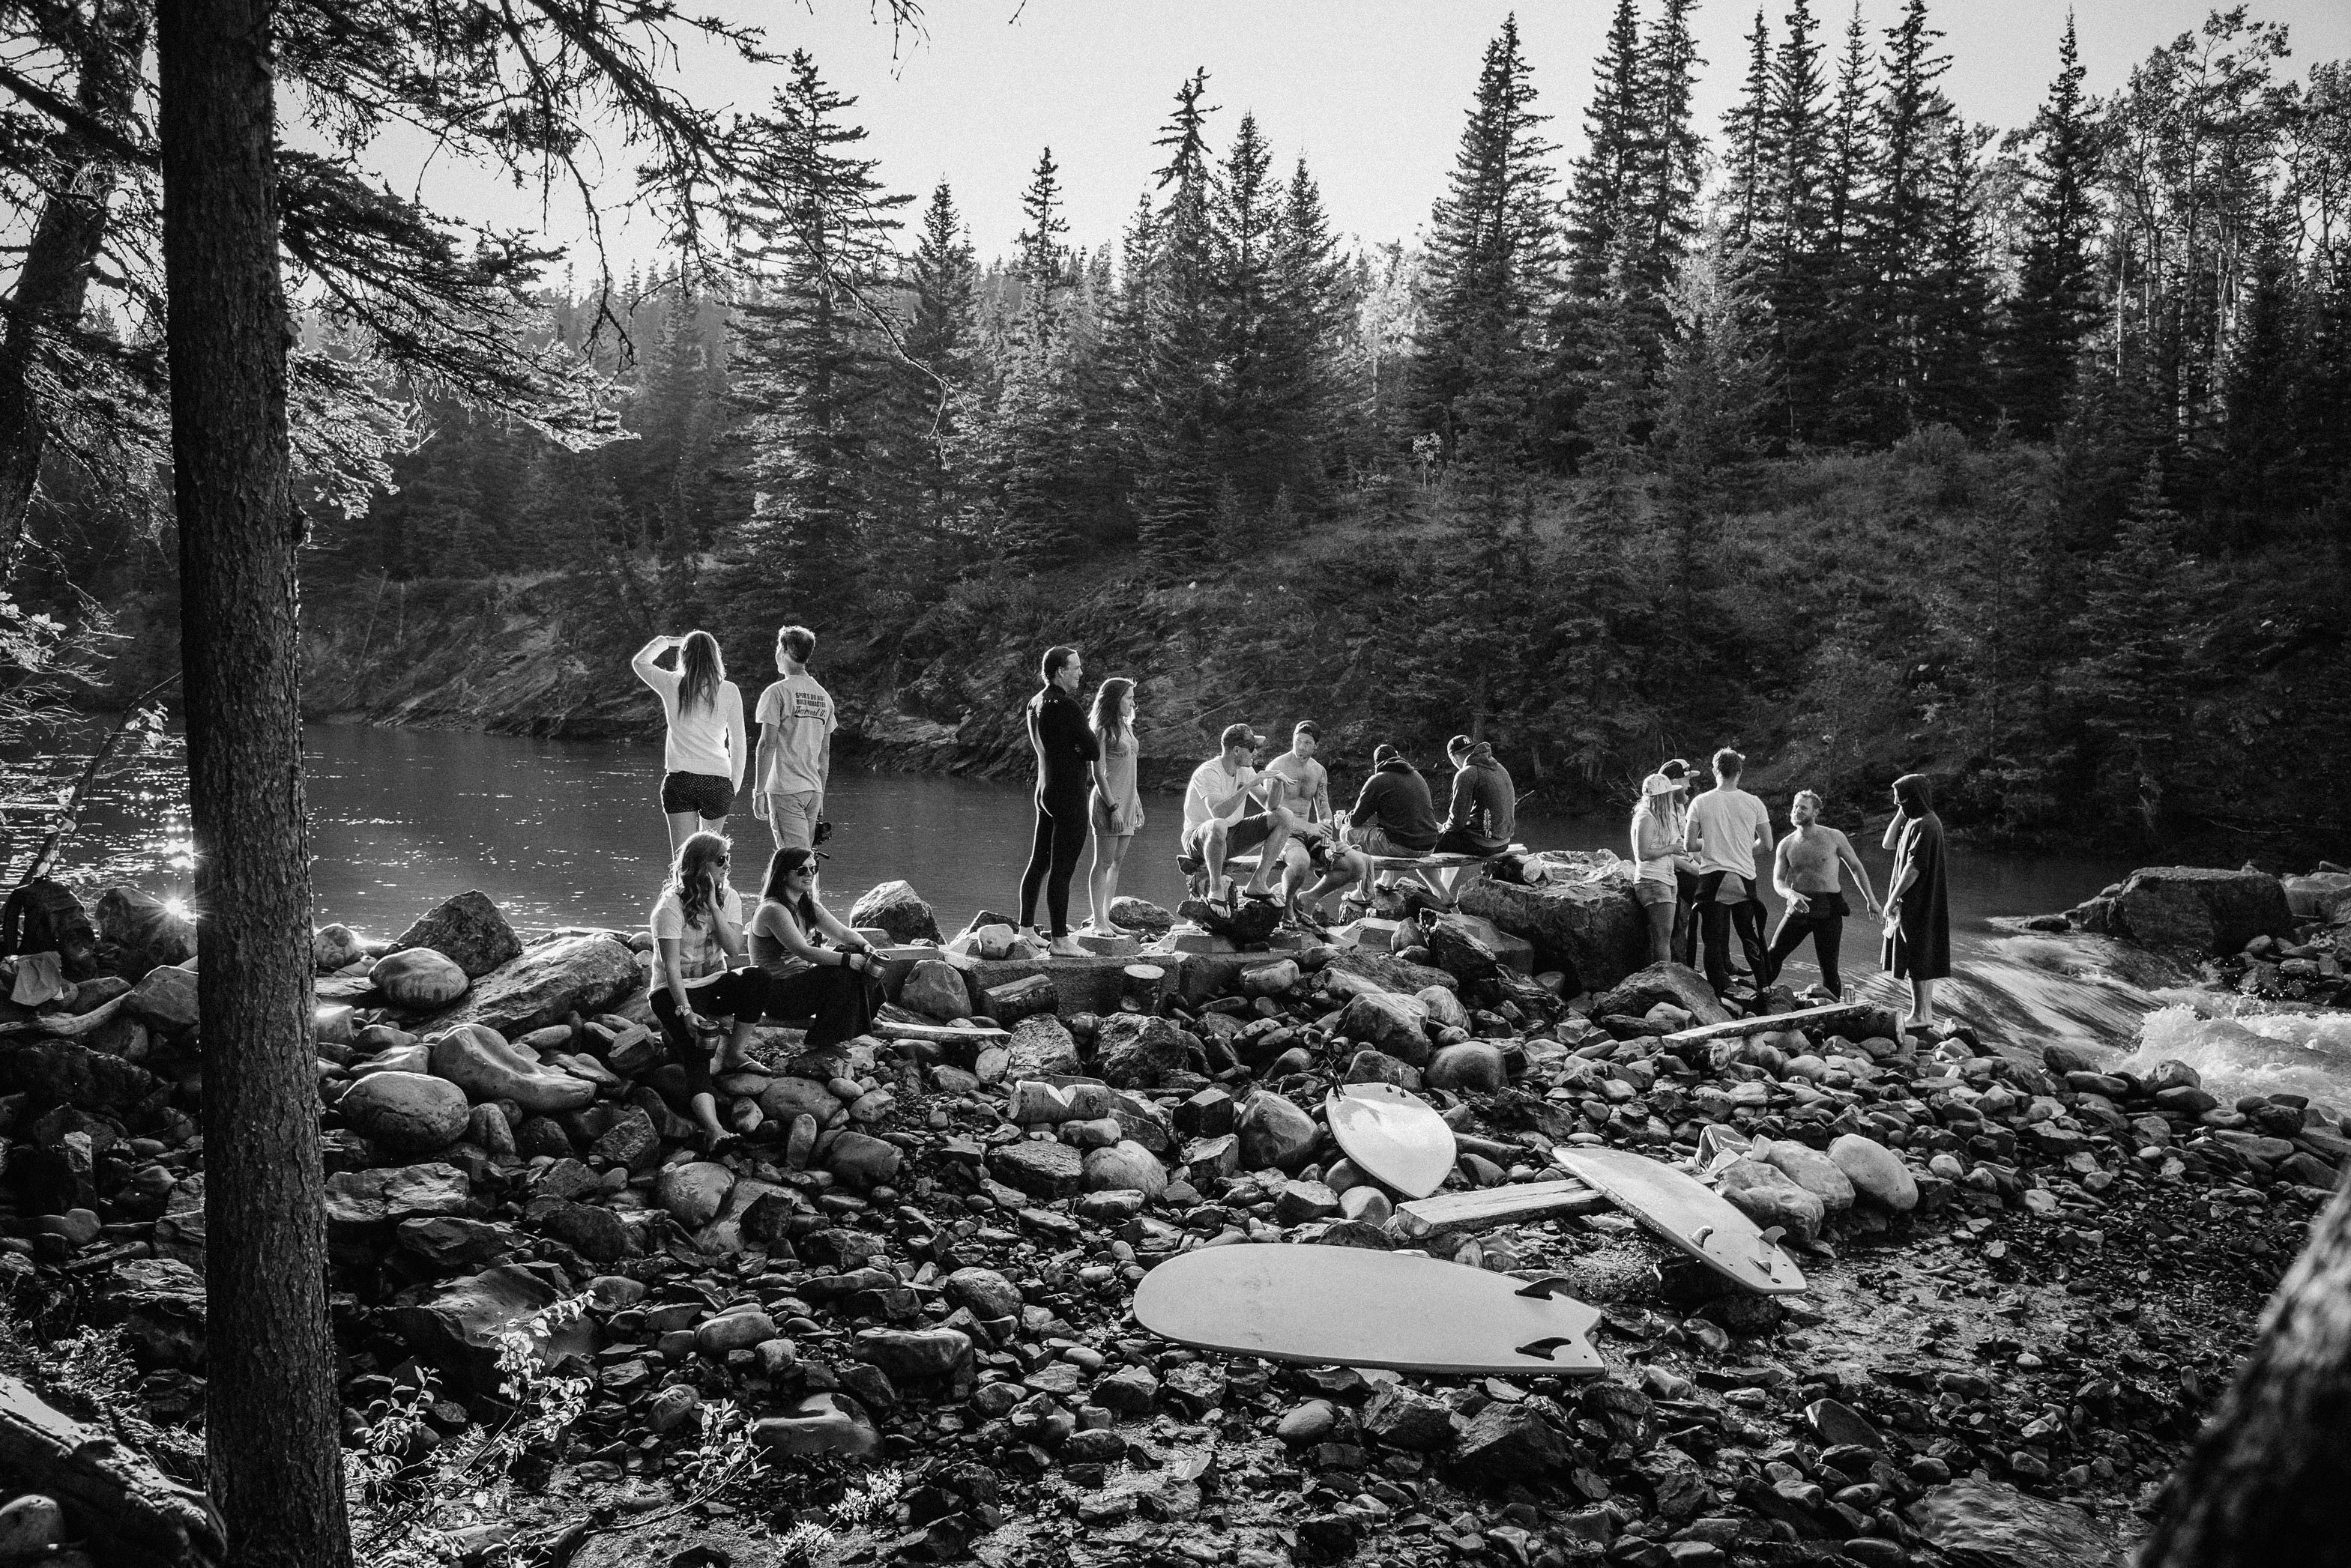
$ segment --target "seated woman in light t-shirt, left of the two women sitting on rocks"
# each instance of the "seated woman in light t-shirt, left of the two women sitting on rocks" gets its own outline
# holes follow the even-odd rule
[[[670,1058],[686,1070],[694,1119],[703,1143],[726,1138],[710,1088],[708,1037],[726,1034],[717,1072],[748,1060],[750,1032],[769,1009],[769,978],[743,952],[743,896],[726,886],[726,839],[696,832],[677,846],[677,863],[654,903],[654,1018]]]

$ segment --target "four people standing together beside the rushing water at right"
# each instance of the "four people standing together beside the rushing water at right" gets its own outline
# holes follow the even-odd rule
[[[1791,827],[1773,844],[1770,809],[1740,778],[1747,757],[1728,745],[1714,752],[1714,788],[1697,792],[1697,771],[1672,759],[1641,780],[1632,811],[1632,856],[1639,865],[1634,896],[1648,912],[1650,959],[1695,966],[1704,954],[1707,983],[1730,990],[1735,969],[1730,938],[1747,959],[1744,978],[1756,990],[1780,978],[1780,966],[1813,938],[1820,983],[1843,997],[1838,959],[1846,919],[1846,872],[1862,907],[1881,917],[1881,964],[1909,983],[1909,1025],[1935,1023],[1935,980],[1951,973],[1951,903],[1944,877],[1942,818],[1923,773],[1904,773],[1893,785],[1895,818],[1883,846],[1895,851],[1893,879],[1881,910],[1869,867],[1836,827],[1820,820],[1813,790],[1789,804]],[[1780,929],[1766,940],[1768,907],[1759,891],[1759,863],[1770,865],[1770,884],[1787,900]]]

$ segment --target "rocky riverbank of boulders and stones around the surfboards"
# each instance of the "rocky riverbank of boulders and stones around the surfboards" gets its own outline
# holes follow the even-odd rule
[[[2222,1105],[2177,1065],[2095,1072],[1867,1011],[1773,1025],[1806,1001],[1784,990],[1683,1039],[1730,1013],[1688,971],[1610,973],[1610,905],[1568,903],[1594,919],[1521,931],[1549,985],[1460,917],[1394,954],[1176,954],[1150,1016],[1079,971],[938,957],[889,1013],[915,1039],[809,1056],[764,1027],[757,1070],[719,1081],[741,1140],[715,1152],[647,1030],[642,936],[524,940],[480,896],[388,940],[322,931],[348,1460],[386,1481],[362,1530],[440,1561],[675,1568],[2022,1568],[2125,1544],[2344,1128],[2292,1095]],[[167,912],[101,914],[122,973],[0,1023],[14,1368],[89,1399],[73,1335],[96,1328],[136,1373],[82,1413],[200,1481],[193,971]],[[856,919],[910,938],[926,910],[898,889]],[[955,1018],[1006,1037],[919,1037]],[[1324,1093],[1361,1079],[1444,1112],[1453,1192],[1559,1180],[1561,1145],[1730,1150],[1721,1190],[1787,1227],[1810,1291],[1726,1293],[1594,1204],[1429,1225],[1331,1145]],[[1606,1314],[1608,1371],[1366,1375],[1140,1331],[1145,1272],[1220,1244],[1561,1272]],[[482,1446],[517,1396],[578,1403],[501,1479]],[[188,1509],[155,1472],[118,1490]],[[108,1530],[75,1497],[52,1526],[127,1561]],[[155,1561],[207,1561],[181,1537]]]

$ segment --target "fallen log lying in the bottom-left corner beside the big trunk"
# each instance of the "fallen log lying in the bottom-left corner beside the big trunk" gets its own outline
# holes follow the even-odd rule
[[[205,1493],[172,1481],[101,1427],[63,1415],[0,1375],[0,1481],[56,1497],[66,1526],[108,1568],[216,1568],[228,1561]]]

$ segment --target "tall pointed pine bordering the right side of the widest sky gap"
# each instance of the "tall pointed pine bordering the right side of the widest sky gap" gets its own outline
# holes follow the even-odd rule
[[[1514,461],[1540,440],[1540,313],[1554,294],[1552,146],[1516,16],[1486,47],[1476,103],[1429,221],[1418,425],[1448,458]]]

